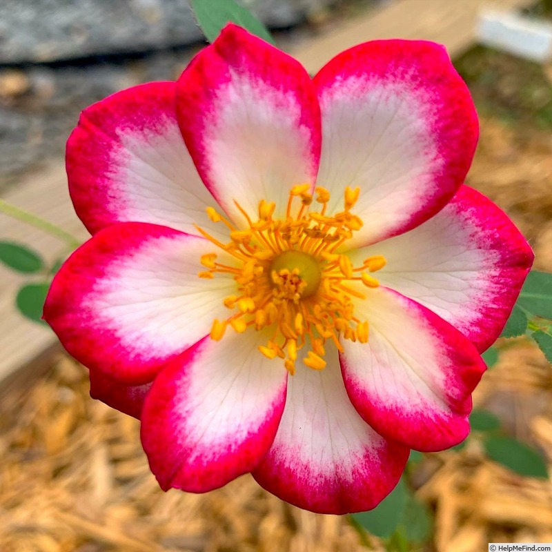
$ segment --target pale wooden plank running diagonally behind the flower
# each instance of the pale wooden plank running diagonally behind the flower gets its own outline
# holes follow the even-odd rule
[[[519,8],[529,3],[531,0],[500,0],[500,8]],[[490,6],[493,2],[487,0],[395,0],[308,41],[292,53],[311,72],[342,50],[377,38],[433,40],[443,43],[455,56],[473,43],[477,13]],[[3,198],[59,224],[81,239],[88,235],[72,209],[61,160],[21,180]],[[2,214],[0,236],[32,244],[50,261],[63,253],[59,239]],[[0,380],[22,366],[31,363],[32,367],[46,351],[55,351],[55,335],[46,327],[26,321],[14,308],[17,289],[26,281],[28,277],[14,275],[0,266],[0,350],[3,353]]]

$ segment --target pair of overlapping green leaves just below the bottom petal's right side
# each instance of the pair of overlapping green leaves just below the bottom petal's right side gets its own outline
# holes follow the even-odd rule
[[[389,548],[396,550],[408,549],[408,542],[423,542],[431,529],[428,509],[408,489],[404,476],[379,506],[351,517],[368,533],[389,539]]]

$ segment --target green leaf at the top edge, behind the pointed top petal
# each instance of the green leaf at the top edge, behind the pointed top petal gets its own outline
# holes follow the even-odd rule
[[[197,24],[209,42],[213,42],[226,23],[236,23],[257,37],[274,44],[266,27],[249,10],[234,0],[191,0]]]

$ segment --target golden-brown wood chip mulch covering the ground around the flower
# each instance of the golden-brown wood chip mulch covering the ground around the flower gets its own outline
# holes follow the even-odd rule
[[[552,139],[484,121],[469,184],[511,213],[552,271]],[[552,370],[523,339],[500,344],[475,394],[552,469]],[[0,402],[0,552],[362,550],[344,518],[314,515],[264,493],[248,476],[205,495],[159,490],[139,423],[88,396],[86,371],[61,356],[46,377]],[[552,484],[486,460],[476,439],[428,455],[413,480],[435,512],[443,552],[487,542],[552,542]],[[382,545],[371,539],[376,549]]]

